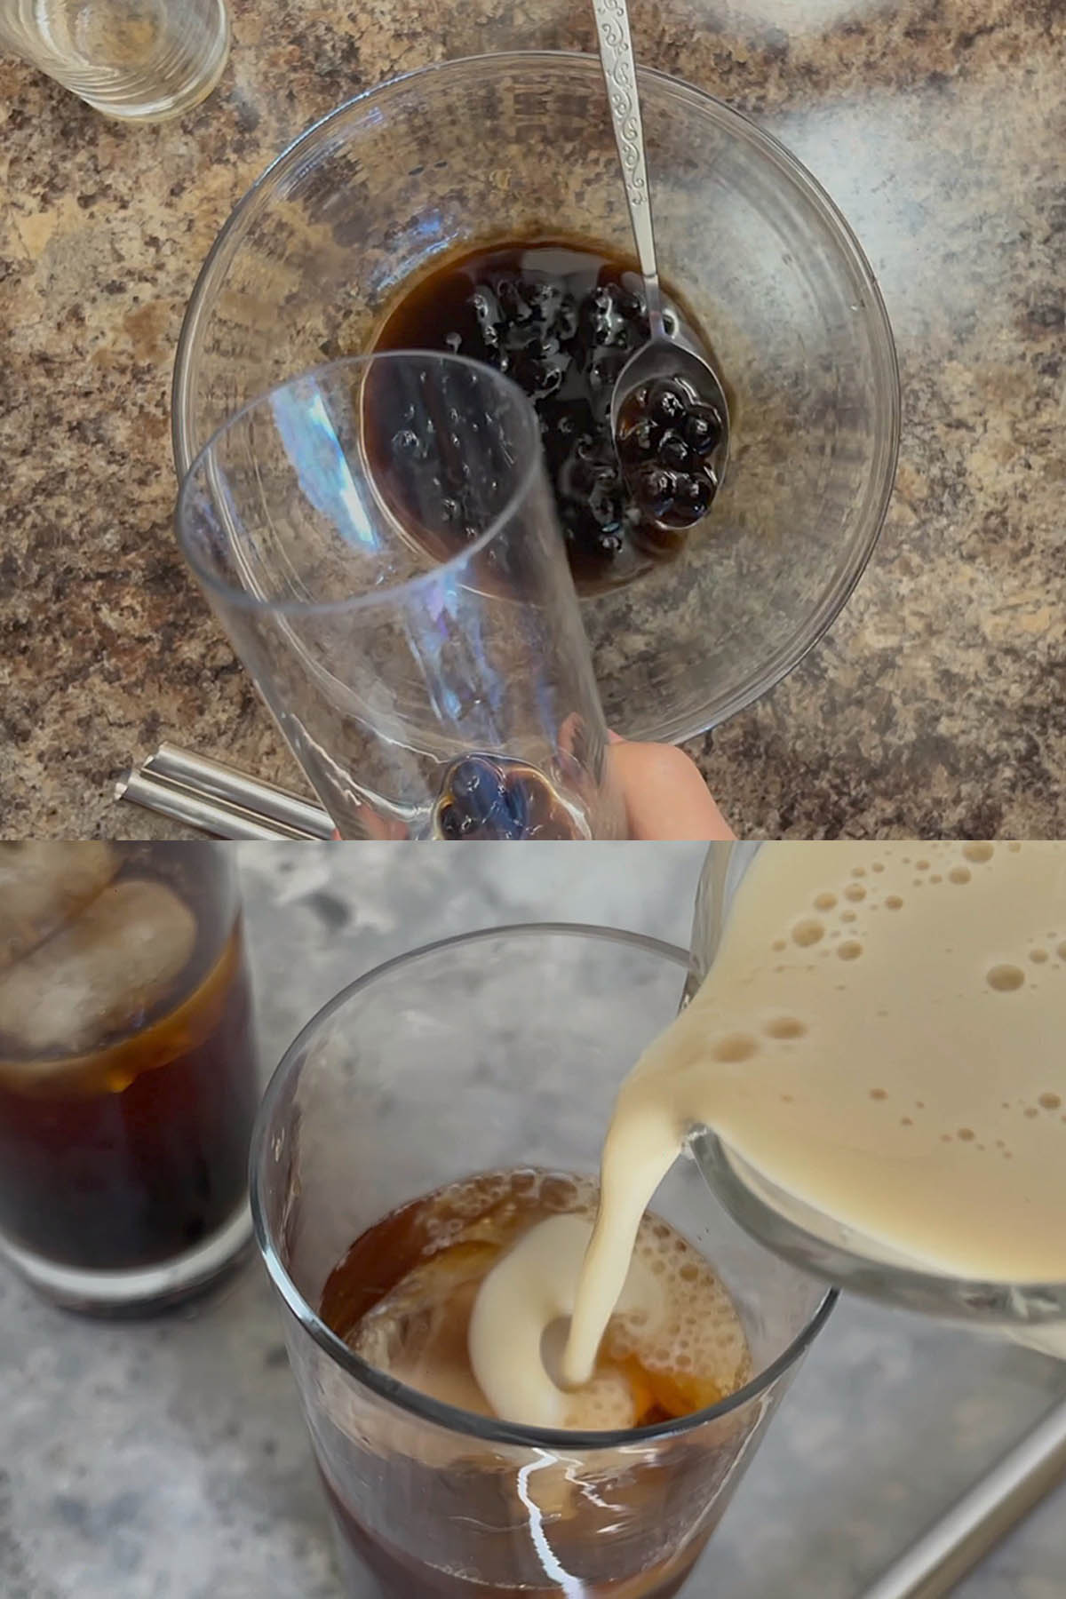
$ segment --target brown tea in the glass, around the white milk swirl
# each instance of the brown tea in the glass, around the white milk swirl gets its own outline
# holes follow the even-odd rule
[[[376,1369],[438,1402],[489,1417],[467,1351],[481,1282],[529,1228],[558,1215],[591,1218],[595,1202],[591,1182],[532,1169],[451,1183],[358,1238],[326,1281],[320,1314]],[[583,1430],[649,1426],[702,1410],[750,1375],[735,1308],[694,1246],[649,1215],[638,1255],[658,1284],[665,1316],[654,1332],[642,1332],[636,1319],[612,1319],[596,1377],[574,1396],[567,1428],[575,1438]],[[400,1460],[390,1452],[388,1525],[368,1525],[329,1481],[324,1463],[321,1469],[353,1580],[369,1567],[384,1593],[396,1599],[547,1599],[566,1591],[585,1599],[668,1599],[718,1519],[718,1513],[706,1519],[703,1506],[721,1485],[718,1476],[735,1455],[735,1441],[732,1453],[722,1450],[721,1458],[705,1447],[705,1473],[695,1477],[690,1444],[676,1444],[678,1471],[671,1469],[671,1447],[660,1445],[654,1466],[638,1457],[617,1460],[617,1481],[601,1479],[598,1492],[583,1492],[561,1465],[523,1490],[521,1474],[516,1477],[499,1453],[483,1450],[479,1458],[476,1439],[459,1445],[447,1461],[430,1458],[432,1442],[425,1458]],[[574,1452],[580,1455],[580,1444]],[[553,1581],[558,1573],[539,1562],[523,1492],[534,1498],[553,1559],[572,1577],[572,1589]],[[692,1493],[706,1493],[695,1514],[687,1501]],[[406,1508],[417,1509],[417,1535],[414,1524],[404,1525]],[[473,1540],[463,1538],[467,1519],[476,1525]],[[674,1519],[686,1533],[671,1543]],[[639,1553],[626,1525],[644,1529]]]

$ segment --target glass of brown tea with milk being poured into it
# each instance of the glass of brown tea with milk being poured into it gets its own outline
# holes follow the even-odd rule
[[[700,1559],[833,1295],[689,1159],[591,1382],[548,1383],[553,1425],[523,1418],[526,1378],[558,1367],[615,1092],[686,972],[623,932],[471,934],[345,988],[275,1073],[253,1215],[352,1594],[668,1599]],[[492,1334],[523,1254],[548,1295],[526,1350],[521,1318]]]

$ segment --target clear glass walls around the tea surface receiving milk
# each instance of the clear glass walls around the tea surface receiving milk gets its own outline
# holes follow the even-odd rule
[[[253,1215],[353,1596],[368,1577],[387,1599],[678,1593],[825,1322],[834,1295],[754,1246],[684,1159],[655,1210],[721,1274],[754,1369],[708,1410],[628,1433],[486,1420],[384,1377],[318,1316],[332,1266],[396,1206],[502,1167],[595,1174],[686,966],[601,927],[470,934],[352,983],[278,1067]]]

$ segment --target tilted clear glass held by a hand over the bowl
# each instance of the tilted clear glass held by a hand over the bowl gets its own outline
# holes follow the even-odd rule
[[[337,361],[189,472],[185,556],[344,838],[619,838],[537,417],[486,366]]]

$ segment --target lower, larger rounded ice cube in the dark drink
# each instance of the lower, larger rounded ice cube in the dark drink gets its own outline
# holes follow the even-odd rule
[[[26,1055],[80,1055],[157,1004],[189,963],[197,919],[161,883],[105,887],[0,975],[0,1035]],[[48,1062],[19,1065],[38,1073]]]

